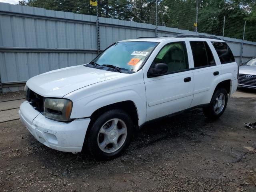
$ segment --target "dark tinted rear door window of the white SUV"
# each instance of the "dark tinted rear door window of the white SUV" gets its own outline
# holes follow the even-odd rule
[[[194,67],[202,67],[215,64],[212,51],[207,42],[204,41],[190,41],[192,49]]]

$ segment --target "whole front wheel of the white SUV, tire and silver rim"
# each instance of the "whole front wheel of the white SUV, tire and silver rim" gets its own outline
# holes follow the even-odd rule
[[[104,112],[90,127],[88,150],[97,160],[116,158],[128,148],[132,132],[132,119],[125,111],[114,109]]]

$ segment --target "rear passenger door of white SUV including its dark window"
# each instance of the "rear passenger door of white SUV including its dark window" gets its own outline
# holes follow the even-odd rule
[[[191,40],[190,51],[193,56],[194,98],[190,107],[210,103],[212,88],[222,79],[220,66],[212,54],[207,40]]]

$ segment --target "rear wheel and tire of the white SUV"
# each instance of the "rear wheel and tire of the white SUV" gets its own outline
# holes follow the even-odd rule
[[[222,102],[220,102],[221,96],[223,98]],[[217,90],[215,90],[209,106],[203,108],[203,113],[206,117],[210,119],[218,119],[224,113],[227,103],[227,90],[225,88],[218,88]]]

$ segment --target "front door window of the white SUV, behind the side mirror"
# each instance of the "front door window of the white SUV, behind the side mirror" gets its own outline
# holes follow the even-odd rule
[[[167,44],[160,50],[153,63],[166,63],[168,72],[188,69],[188,53],[185,42]]]

